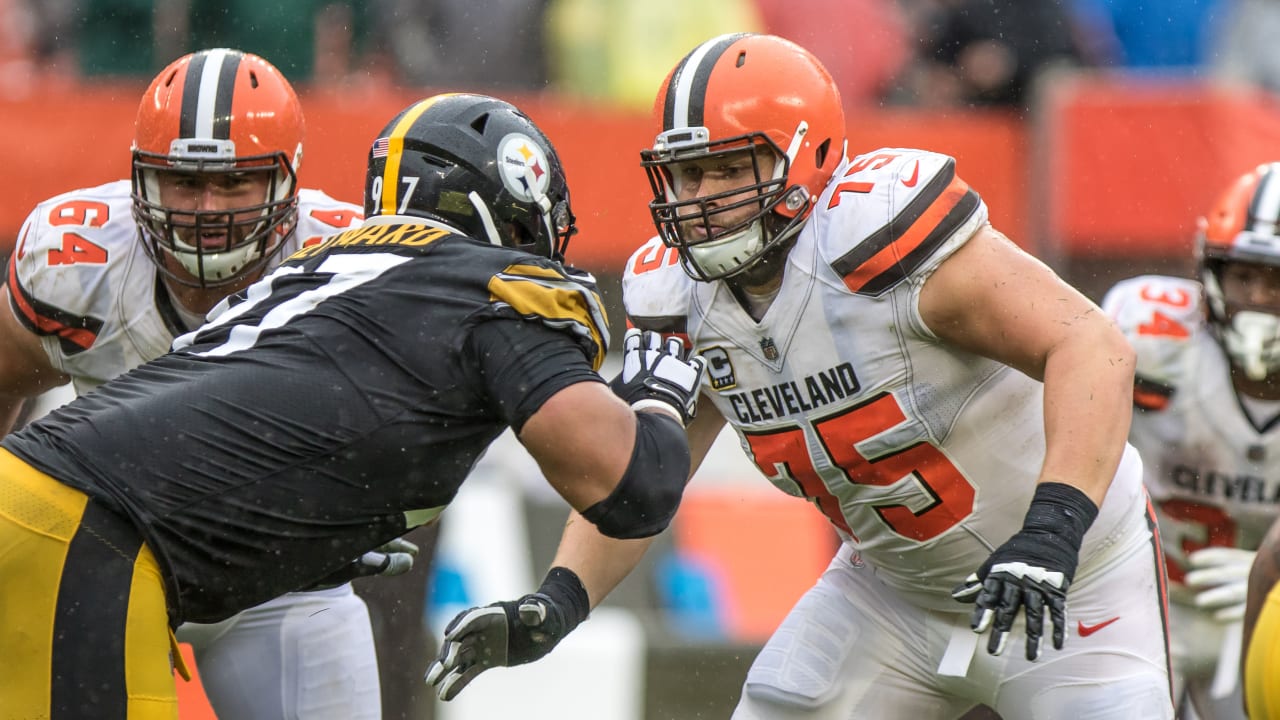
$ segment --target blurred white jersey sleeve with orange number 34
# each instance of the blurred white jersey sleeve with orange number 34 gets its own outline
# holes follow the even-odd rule
[[[1162,409],[1179,384],[1180,357],[1203,327],[1199,283],[1165,275],[1124,279],[1103,296],[1102,311],[1137,356],[1135,405]]]

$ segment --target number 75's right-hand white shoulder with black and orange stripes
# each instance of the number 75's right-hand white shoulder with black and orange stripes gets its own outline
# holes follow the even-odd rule
[[[987,222],[954,158],[884,147],[846,160],[818,199],[819,254],[858,295],[931,272]]]

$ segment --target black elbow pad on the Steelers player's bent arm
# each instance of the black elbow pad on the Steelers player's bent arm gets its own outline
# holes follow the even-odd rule
[[[631,462],[608,497],[582,511],[602,533],[617,539],[667,529],[689,482],[689,438],[664,413],[636,413]]]

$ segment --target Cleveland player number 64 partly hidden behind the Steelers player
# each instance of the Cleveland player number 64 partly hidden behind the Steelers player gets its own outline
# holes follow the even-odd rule
[[[219,300],[362,218],[297,187],[301,105],[256,55],[175,60],[134,129],[132,181],[46,200],[22,227],[0,311],[0,432],[24,398],[68,379],[84,393],[166,352]],[[412,557],[392,560],[402,571]],[[348,579],[178,629],[220,717],[380,717],[369,611]]]

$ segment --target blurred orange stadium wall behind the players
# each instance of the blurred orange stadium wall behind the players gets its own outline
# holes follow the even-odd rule
[[[0,99],[0,255],[40,200],[128,177],[143,87],[65,85]],[[303,90],[302,183],[358,201],[367,145],[417,91]],[[1052,85],[1020,119],[998,111],[860,109],[854,152],[882,146],[954,155],[993,224],[1046,258],[1161,256],[1189,249],[1194,218],[1222,184],[1280,158],[1280,105],[1260,92],[1196,82],[1083,76]],[[576,264],[616,273],[652,234],[639,150],[648,114],[550,96],[515,99],[561,151],[580,217]]]

